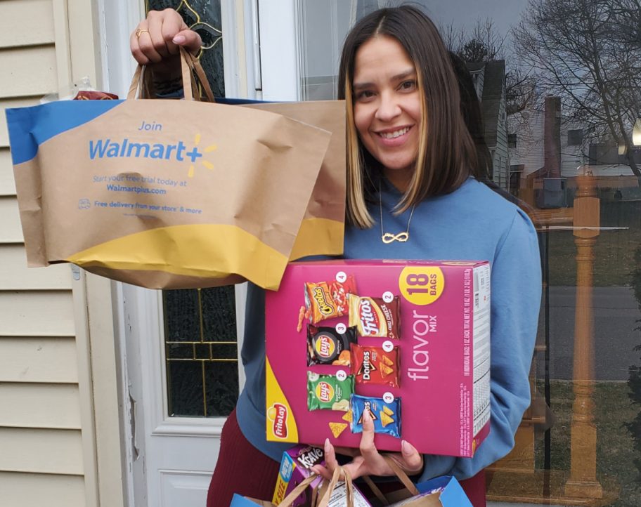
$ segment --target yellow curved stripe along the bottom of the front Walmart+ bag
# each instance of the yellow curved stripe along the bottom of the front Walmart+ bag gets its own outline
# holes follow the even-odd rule
[[[235,225],[193,224],[136,232],[79,251],[65,261],[81,267],[189,277],[221,278],[237,273],[259,287],[276,290],[287,256]]]

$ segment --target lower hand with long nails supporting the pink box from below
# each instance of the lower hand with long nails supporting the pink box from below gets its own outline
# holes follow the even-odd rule
[[[331,480],[332,473],[339,466],[336,461],[336,452],[353,457],[350,463],[343,465],[343,468],[347,469],[354,479],[362,475],[395,475],[374,445],[374,422],[367,410],[363,411],[363,435],[359,449],[347,447],[335,449],[329,439],[325,440],[325,466],[316,465],[313,471]],[[401,442],[401,452],[387,455],[391,456],[408,475],[419,473],[423,468],[422,454],[405,440]]]

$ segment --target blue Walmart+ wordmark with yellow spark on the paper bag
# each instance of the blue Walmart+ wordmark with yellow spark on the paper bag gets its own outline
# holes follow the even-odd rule
[[[89,140],[89,159],[144,158],[190,162],[188,176],[193,178],[195,164],[199,160],[210,171],[214,169],[214,164],[206,160],[204,154],[211,153],[218,148],[216,145],[209,145],[201,152],[198,149],[200,139],[200,133],[197,133],[191,150],[188,150],[188,147],[181,140],[176,144],[134,143],[129,138],[122,140],[112,140],[111,138]]]

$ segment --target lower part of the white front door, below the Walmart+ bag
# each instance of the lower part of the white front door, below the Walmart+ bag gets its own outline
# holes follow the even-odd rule
[[[205,505],[224,416],[242,382],[234,292],[241,301],[243,288],[119,288],[131,418],[126,443],[136,507]],[[211,304],[219,309],[219,301],[226,315],[216,326]],[[212,336],[210,324],[234,336]]]

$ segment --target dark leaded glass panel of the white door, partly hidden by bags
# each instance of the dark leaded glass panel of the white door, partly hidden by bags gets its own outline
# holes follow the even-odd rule
[[[202,37],[198,55],[215,96],[225,96],[220,0],[148,0],[175,8]],[[169,416],[227,416],[238,400],[233,287],[163,291]]]

